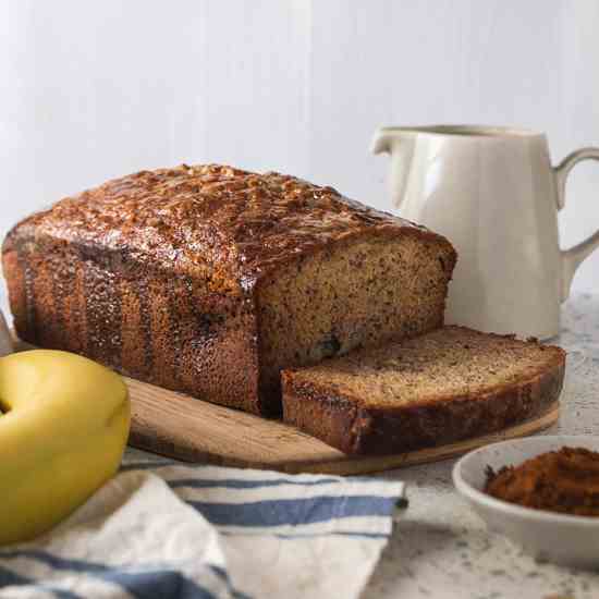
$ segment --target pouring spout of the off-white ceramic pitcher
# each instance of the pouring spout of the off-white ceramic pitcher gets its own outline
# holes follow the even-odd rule
[[[401,138],[400,138],[401,135]],[[415,135],[408,131],[398,134],[387,127],[379,127],[375,131],[370,151],[382,154],[386,151],[391,157],[391,169],[389,184],[391,187],[391,205],[399,208],[402,204],[404,191],[407,186],[407,178],[414,155]]]

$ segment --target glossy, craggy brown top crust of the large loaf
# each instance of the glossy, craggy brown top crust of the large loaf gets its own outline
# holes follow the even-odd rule
[[[413,234],[451,244],[424,227],[341,196],[332,187],[279,174],[207,164],[142,171],[66,197],[19,223],[20,242],[73,244],[213,286],[253,289],[298,255],[363,234]],[[229,290],[232,291],[232,290]]]

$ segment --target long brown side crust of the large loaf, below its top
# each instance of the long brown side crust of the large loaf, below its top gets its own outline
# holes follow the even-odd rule
[[[4,254],[21,339],[86,355],[125,375],[260,413],[255,315],[234,296],[148,269],[119,272],[71,246]]]

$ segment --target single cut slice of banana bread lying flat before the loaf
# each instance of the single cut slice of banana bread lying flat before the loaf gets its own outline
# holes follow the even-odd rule
[[[283,418],[347,454],[387,454],[478,437],[558,400],[565,352],[444,327],[284,370]]]

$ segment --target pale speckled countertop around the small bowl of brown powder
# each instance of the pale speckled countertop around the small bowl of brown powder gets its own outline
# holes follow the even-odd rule
[[[545,433],[599,435],[599,295],[563,309],[555,342],[569,352],[559,424]],[[396,525],[364,599],[590,599],[599,573],[536,563],[487,533],[451,481],[455,460],[389,473],[408,482],[409,508]]]

